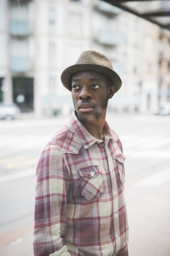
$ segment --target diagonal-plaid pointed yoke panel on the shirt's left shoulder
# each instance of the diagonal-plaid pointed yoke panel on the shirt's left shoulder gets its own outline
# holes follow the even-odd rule
[[[60,128],[47,145],[55,145],[63,154],[77,153],[82,146],[70,122]]]

